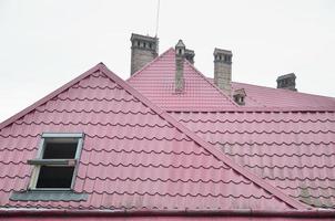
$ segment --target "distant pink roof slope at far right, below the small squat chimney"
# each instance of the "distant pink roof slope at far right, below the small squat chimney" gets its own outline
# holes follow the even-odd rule
[[[213,81],[213,80],[212,80]],[[301,107],[302,109],[318,108],[328,109],[335,108],[335,98],[293,92],[290,90],[271,88],[265,86],[256,86],[232,82],[232,88],[244,88],[246,92],[245,106],[265,106],[265,107]]]

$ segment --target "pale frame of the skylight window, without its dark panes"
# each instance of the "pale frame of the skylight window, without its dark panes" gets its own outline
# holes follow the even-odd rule
[[[28,160],[29,165],[33,165],[33,171],[32,176],[30,179],[29,183],[29,189],[30,190],[72,190],[74,187],[74,181],[78,172],[78,165],[79,165],[79,159],[81,155],[81,149],[83,146],[83,138],[84,134],[83,133],[43,133],[41,137],[41,141],[39,145],[39,150],[38,150],[38,156],[35,159]],[[69,139],[75,139],[77,143],[77,150],[75,150],[75,156],[74,158],[71,159],[43,159],[43,154],[45,149],[45,145],[48,144],[49,140],[69,140]],[[71,187],[70,188],[37,188],[38,179],[40,176],[40,169],[41,166],[73,166],[73,175],[72,175],[72,181],[71,181]]]

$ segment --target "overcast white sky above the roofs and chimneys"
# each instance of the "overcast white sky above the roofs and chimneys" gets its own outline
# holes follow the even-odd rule
[[[131,33],[155,34],[158,0],[0,0],[0,122],[99,62],[130,72]],[[304,93],[335,96],[335,1],[161,0],[160,53],[182,39],[213,75],[233,51],[233,81],[275,87],[294,72]]]

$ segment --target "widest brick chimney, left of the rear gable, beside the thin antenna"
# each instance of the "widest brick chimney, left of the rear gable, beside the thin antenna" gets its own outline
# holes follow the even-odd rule
[[[130,41],[132,44],[130,74],[133,75],[158,56],[159,39],[132,33]]]

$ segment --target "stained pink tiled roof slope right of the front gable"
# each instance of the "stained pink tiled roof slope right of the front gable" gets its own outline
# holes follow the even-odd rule
[[[288,196],[335,208],[335,109],[171,114]]]

